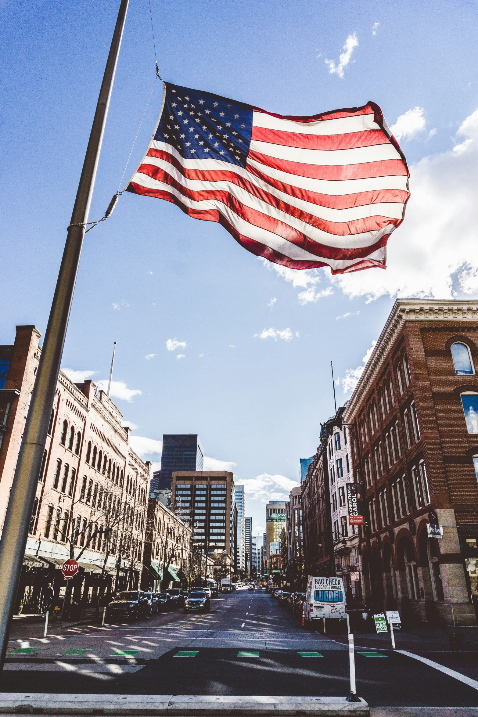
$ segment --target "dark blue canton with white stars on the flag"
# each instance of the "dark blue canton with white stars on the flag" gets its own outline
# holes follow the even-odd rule
[[[211,92],[165,82],[166,98],[154,138],[185,159],[219,159],[245,167],[252,107]]]

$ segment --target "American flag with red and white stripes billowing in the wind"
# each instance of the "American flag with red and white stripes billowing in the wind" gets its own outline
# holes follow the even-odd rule
[[[373,102],[289,117],[164,82],[156,131],[127,189],[219,222],[271,262],[340,274],[385,268],[408,176]]]

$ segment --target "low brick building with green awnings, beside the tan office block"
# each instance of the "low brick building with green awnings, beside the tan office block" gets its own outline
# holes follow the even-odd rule
[[[149,498],[141,587],[186,587],[190,578],[193,531],[157,498]]]

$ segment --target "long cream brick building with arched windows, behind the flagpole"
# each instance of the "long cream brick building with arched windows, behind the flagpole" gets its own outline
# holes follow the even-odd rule
[[[0,521],[3,526],[41,348],[34,326],[17,326],[13,345],[0,346]],[[143,562],[150,464],[130,447],[130,429],[105,391],[74,384],[59,372],[42,469],[30,523],[17,602],[37,610],[72,554],[80,571],[72,599],[101,601],[135,588]]]

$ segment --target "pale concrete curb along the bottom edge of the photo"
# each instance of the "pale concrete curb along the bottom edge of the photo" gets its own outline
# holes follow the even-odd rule
[[[236,695],[67,695],[0,693],[0,714],[54,715],[259,715],[369,717],[368,704],[360,698],[268,697]]]

